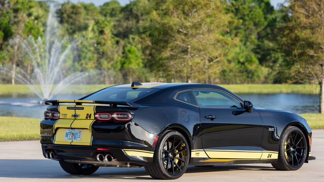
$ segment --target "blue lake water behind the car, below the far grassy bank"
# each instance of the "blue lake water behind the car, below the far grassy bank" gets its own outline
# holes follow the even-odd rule
[[[238,94],[254,106],[286,110],[296,114],[318,113],[319,96],[314,94]],[[58,95],[53,100],[76,100],[84,95]],[[46,105],[34,96],[0,96],[0,116],[43,118]]]

